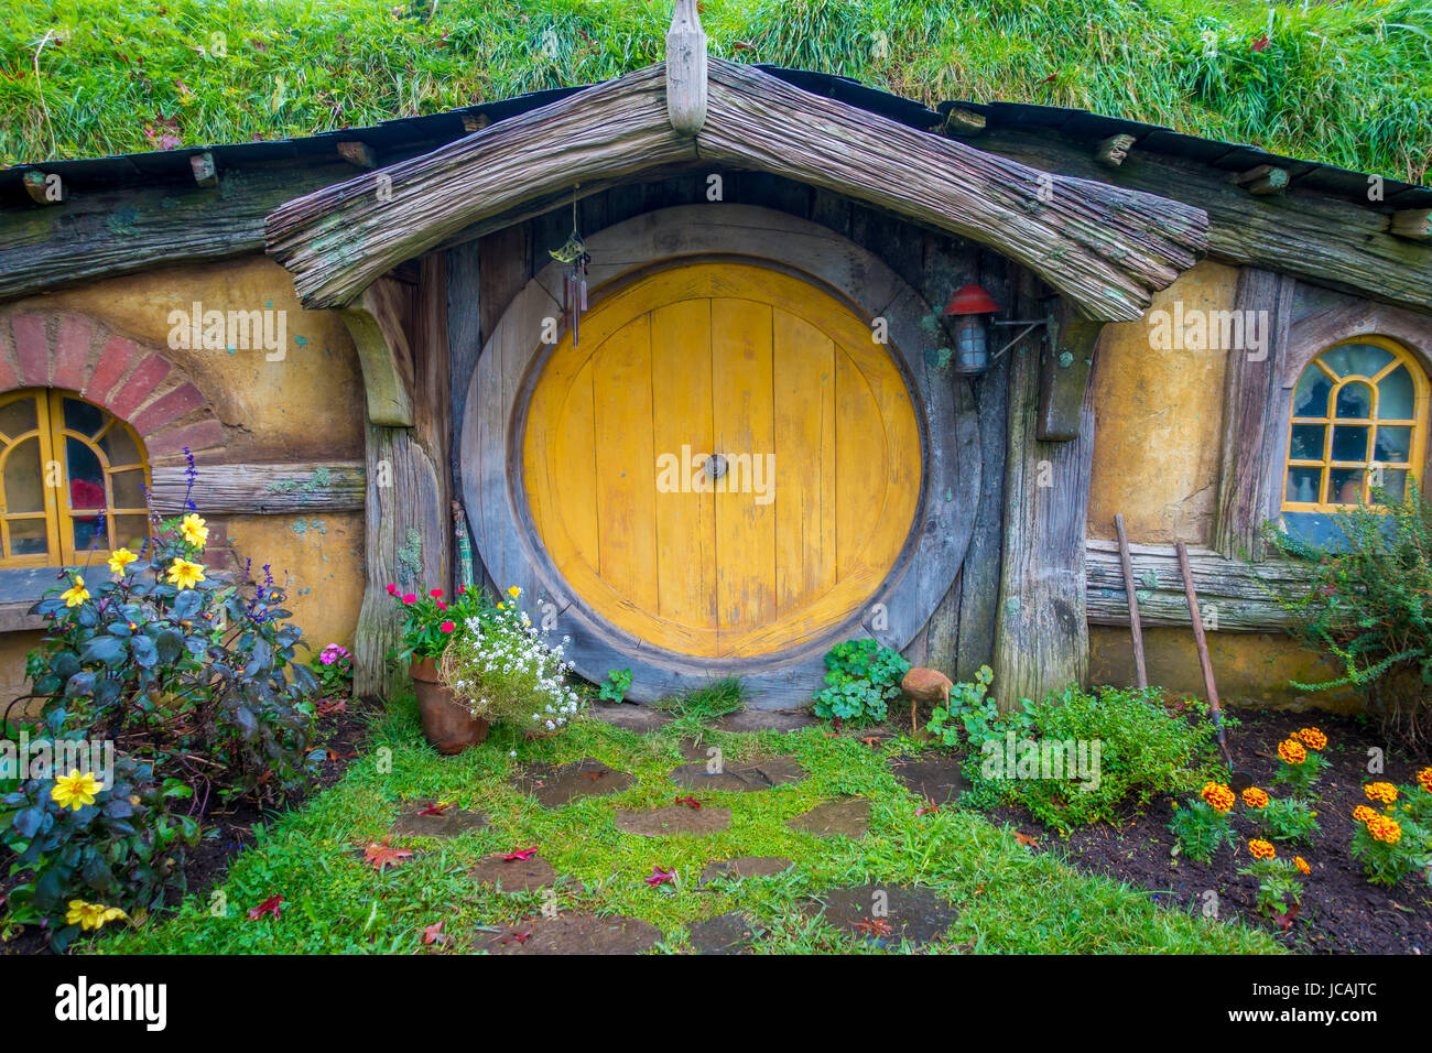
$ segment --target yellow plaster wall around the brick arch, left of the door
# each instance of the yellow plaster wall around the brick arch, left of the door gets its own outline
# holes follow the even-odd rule
[[[262,350],[169,348],[169,312],[192,311],[196,301],[205,311],[286,311],[282,361],[266,361]],[[348,330],[331,311],[302,309],[288,272],[262,255],[112,278],[17,301],[6,311],[89,315],[163,352],[188,371],[225,424],[222,461],[364,457],[362,372]],[[259,576],[269,563],[278,580],[285,573],[292,577],[289,609],[315,649],[331,642],[352,646],[362,602],[361,513],[231,516],[225,523],[241,563],[251,559]],[[39,633],[0,635],[4,691],[23,683],[24,653],[37,639]]]

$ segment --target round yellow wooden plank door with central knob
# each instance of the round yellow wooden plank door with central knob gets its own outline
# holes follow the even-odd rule
[[[556,569],[601,617],[684,655],[760,656],[862,607],[921,484],[909,393],[871,327],[732,262],[603,299],[547,360],[523,470]]]

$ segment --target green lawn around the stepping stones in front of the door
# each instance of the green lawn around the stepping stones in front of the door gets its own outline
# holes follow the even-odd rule
[[[1148,893],[1077,874],[1018,844],[975,812],[919,807],[888,772],[899,741],[878,749],[821,728],[786,735],[705,732],[727,761],[793,754],[808,776],[763,792],[702,792],[707,805],[732,808],[730,830],[709,837],[643,838],[619,832],[617,807],[673,804],[667,774],[682,764],[679,742],[697,716],[636,735],[584,719],[564,738],[520,741],[498,729],[487,744],[444,758],[422,744],[415,711],[397,705],[344,779],[262,831],[221,885],[222,917],[209,895],[190,895],[178,914],[150,917],[107,933],[92,947],[113,953],[414,953],[422,928],[445,920],[447,950],[467,950],[483,927],[503,927],[541,907],[541,894],[501,894],[467,878],[478,857],[537,845],[560,875],[561,910],[584,908],[643,918],[664,934],[663,950],[682,951],[684,925],[742,908],[769,934],[763,953],[869,950],[851,934],[806,920],[799,903],[828,888],[865,883],[922,884],[959,908],[935,950],[978,953],[1276,953],[1262,933],[1164,910]],[[911,744],[905,744],[909,746]],[[516,752],[516,756],[510,755]],[[521,762],[593,756],[637,776],[630,789],[544,809],[507,778]],[[871,832],[859,840],[795,834],[785,821],[841,794],[868,797]],[[485,812],[491,824],[458,838],[395,838],[411,860],[384,874],[355,848],[381,840],[404,801],[444,799]],[[706,862],[736,855],[783,855],[783,874],[700,891]],[[674,868],[673,891],[644,884],[653,867]],[[282,895],[278,920],[248,920],[249,908]],[[440,950],[432,947],[428,950]]]

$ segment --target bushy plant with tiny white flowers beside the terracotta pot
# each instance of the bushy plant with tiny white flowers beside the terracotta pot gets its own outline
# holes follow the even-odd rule
[[[586,708],[567,685],[567,643],[570,638],[547,643],[521,609],[521,589],[513,586],[500,603],[484,599],[463,619],[438,669],[473,716],[534,736],[557,735]]]

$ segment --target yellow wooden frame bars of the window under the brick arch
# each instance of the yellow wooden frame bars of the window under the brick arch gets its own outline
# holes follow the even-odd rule
[[[24,400],[33,401],[36,407],[36,427],[16,436],[0,431],[0,567],[73,566],[79,563],[82,557],[107,557],[115,546],[116,517],[149,514],[147,507],[133,509],[115,504],[113,477],[117,473],[135,471],[136,468],[142,470],[145,491],[147,493],[150,483],[149,457],[145,451],[143,441],[139,438],[139,433],[100,405],[95,405],[95,408],[100,411],[103,424],[93,436],[86,436],[82,431],[69,428],[64,425],[66,398],[95,405],[95,403],[82,398],[79,394],[64,391],[62,388],[24,388],[20,391],[7,391],[0,395],[0,408]],[[133,441],[135,450],[139,454],[137,463],[110,464],[109,456],[99,443],[105,438],[105,436],[116,430],[129,434],[129,438]],[[7,506],[4,473],[9,468],[10,454],[29,438],[39,438],[44,509],[43,511],[10,511]],[[89,447],[89,450],[99,460],[100,468],[105,474],[103,509],[76,510],[72,507],[70,501],[73,497],[69,487],[67,463],[63,456],[66,438],[79,440]],[[60,477],[57,486],[49,484],[52,466],[59,467]],[[107,544],[103,549],[92,547],[76,552],[74,521],[92,520],[100,513],[105,516],[105,540]],[[19,556],[10,554],[10,524],[21,520],[37,520],[42,516],[46,523],[47,550],[44,553],[24,553]]]

